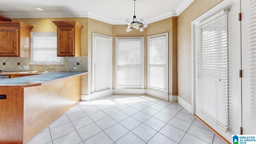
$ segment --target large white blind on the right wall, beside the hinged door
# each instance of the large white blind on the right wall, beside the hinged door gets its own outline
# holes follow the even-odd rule
[[[228,130],[228,13],[196,26],[196,114]]]

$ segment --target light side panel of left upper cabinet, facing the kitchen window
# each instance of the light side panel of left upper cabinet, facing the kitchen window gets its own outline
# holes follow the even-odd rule
[[[20,28],[20,57],[30,57],[30,32],[27,28]],[[23,49],[24,46],[28,49]]]

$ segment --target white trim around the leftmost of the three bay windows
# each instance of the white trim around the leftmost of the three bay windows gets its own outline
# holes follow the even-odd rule
[[[106,36],[102,34],[96,34],[92,33],[92,93],[95,92],[95,36],[100,36],[102,38],[110,39],[111,45],[110,45],[110,89],[112,88],[112,75],[113,75],[113,42],[112,42],[112,36]]]

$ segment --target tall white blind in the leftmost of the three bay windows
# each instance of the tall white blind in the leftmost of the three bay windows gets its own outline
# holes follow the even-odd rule
[[[112,37],[93,34],[94,92],[112,88]]]

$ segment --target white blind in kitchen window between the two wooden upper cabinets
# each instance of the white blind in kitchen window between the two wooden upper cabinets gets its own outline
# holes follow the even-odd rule
[[[31,32],[32,64],[62,64],[62,58],[57,57],[56,32]]]

